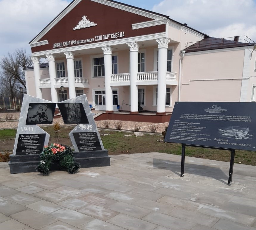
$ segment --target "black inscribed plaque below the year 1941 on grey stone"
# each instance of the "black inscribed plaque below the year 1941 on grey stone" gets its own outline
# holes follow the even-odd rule
[[[39,154],[43,151],[45,133],[19,134],[16,155]]]

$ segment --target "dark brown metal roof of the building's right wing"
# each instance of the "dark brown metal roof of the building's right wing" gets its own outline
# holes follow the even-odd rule
[[[187,43],[185,51],[187,53],[211,49],[224,49],[252,45],[254,44],[239,42],[239,36],[235,36],[232,38],[212,38],[206,35],[204,39],[202,39],[201,41],[198,41],[196,43]]]

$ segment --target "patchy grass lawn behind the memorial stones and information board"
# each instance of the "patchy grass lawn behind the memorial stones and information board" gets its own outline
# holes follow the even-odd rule
[[[61,128],[61,139],[60,143],[66,144],[71,143],[68,133],[74,127],[63,126]],[[53,126],[47,126],[43,128],[47,133],[50,134],[50,142],[56,142],[55,131]],[[127,153],[149,153],[149,152],[160,152],[170,153],[175,155],[181,155],[181,144],[176,143],[164,143],[159,140],[163,139],[162,135],[159,134],[144,134],[144,136],[125,136],[132,133],[119,132],[115,130],[100,130],[100,133],[109,133],[108,136],[101,136],[105,149],[108,150],[109,155],[114,154],[127,154]],[[4,136],[3,136],[4,135]],[[6,139],[15,139],[16,130],[0,130],[0,150],[6,145]],[[5,138],[4,138],[5,137]],[[10,144],[10,143],[9,143]],[[8,144],[8,145],[9,145]],[[13,141],[14,144],[14,141]],[[13,149],[13,146],[11,147]],[[231,151],[215,150],[207,148],[197,147],[186,147],[186,156],[205,158],[217,161],[230,161]],[[256,153],[253,151],[236,150],[235,151],[235,163],[248,164],[256,166]]]

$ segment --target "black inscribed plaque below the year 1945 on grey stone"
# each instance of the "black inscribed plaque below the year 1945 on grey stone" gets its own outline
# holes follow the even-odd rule
[[[73,133],[79,151],[102,150],[96,132]]]

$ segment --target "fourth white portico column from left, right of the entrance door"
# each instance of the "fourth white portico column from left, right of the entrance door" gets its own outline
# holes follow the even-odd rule
[[[113,93],[112,87],[110,86],[111,74],[112,74],[112,50],[110,46],[101,47],[104,54],[104,68],[105,68],[105,102],[106,112],[113,112]]]

